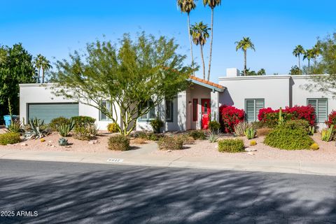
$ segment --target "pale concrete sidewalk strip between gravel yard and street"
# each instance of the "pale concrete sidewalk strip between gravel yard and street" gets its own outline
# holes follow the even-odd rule
[[[314,162],[302,161],[256,160],[255,158],[248,160],[232,160],[223,157],[179,157],[169,155],[169,153],[165,155],[155,155],[151,152],[155,151],[156,148],[156,144],[148,144],[146,148],[120,153],[113,151],[106,153],[78,153],[70,151],[0,150],[0,159],[85,162],[110,165],[140,165],[155,167],[185,167],[336,176],[335,163],[318,164]]]

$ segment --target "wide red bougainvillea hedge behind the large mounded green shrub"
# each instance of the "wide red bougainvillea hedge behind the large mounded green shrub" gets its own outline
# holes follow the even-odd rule
[[[315,113],[312,106],[286,106],[282,110],[283,120],[307,120],[311,126],[315,125]],[[271,108],[260,109],[258,114],[258,120],[269,126],[274,126],[279,119],[279,109],[273,110]],[[336,121],[336,119],[335,119]]]

